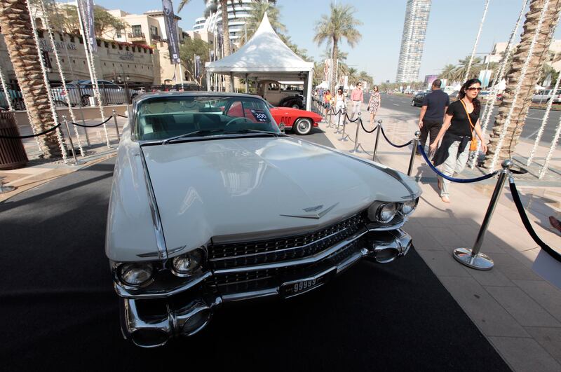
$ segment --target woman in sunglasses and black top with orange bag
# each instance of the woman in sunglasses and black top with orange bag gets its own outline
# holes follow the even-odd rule
[[[431,152],[435,151],[438,142],[442,139],[442,144],[434,155],[433,163],[435,166],[442,164],[441,172],[449,177],[464,170],[468,162],[474,130],[481,141],[483,152],[487,152],[487,145],[483,139],[479,120],[481,103],[477,97],[480,91],[481,81],[476,78],[466,81],[461,86],[458,100],[448,106],[444,124],[442,124],[435,141],[429,147]],[[449,203],[450,181],[438,177],[438,188],[442,201]]]

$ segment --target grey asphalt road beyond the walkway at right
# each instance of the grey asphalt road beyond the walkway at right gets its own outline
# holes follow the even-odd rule
[[[381,106],[386,109],[400,111],[406,114],[407,118],[419,118],[420,108],[411,106],[411,100],[412,99],[410,97],[381,95]],[[492,125],[492,120],[498,112],[499,110],[497,109],[497,106],[495,106],[489,125]],[[545,112],[545,110],[529,109],[526,123],[522,129],[522,135],[520,136],[522,139],[527,139],[532,142],[535,141],[536,134],[539,130],[541,120]],[[543,130],[543,135],[541,137],[541,144],[549,145],[551,143],[551,139],[553,139],[553,135],[555,135],[555,128],[557,127],[557,123],[559,123],[560,117],[561,111],[550,111],[548,123],[545,130]]]

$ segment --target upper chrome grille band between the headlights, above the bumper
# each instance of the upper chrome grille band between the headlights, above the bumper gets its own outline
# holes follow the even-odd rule
[[[362,216],[356,214],[344,221],[303,235],[255,242],[211,244],[208,247],[210,266],[217,270],[313,256],[353,235],[362,225]]]

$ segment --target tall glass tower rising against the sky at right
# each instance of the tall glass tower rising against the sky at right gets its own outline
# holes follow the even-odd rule
[[[431,0],[407,0],[396,77],[398,83],[419,80],[429,13]]]

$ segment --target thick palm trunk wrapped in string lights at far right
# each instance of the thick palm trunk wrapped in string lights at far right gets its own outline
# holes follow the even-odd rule
[[[492,159],[496,151],[500,151],[496,164],[500,164],[503,160],[511,158],[516,145],[518,144],[522,128],[524,128],[528,109],[530,103],[532,102],[534,86],[541,74],[543,62],[548,56],[550,41],[553,37],[553,29],[555,29],[555,25],[557,25],[557,18],[559,17],[559,12],[561,11],[561,0],[550,0],[549,2],[545,18],[543,19],[541,29],[539,30],[538,39],[534,45],[534,55],[529,62],[526,76],[522,81],[522,87],[518,91],[518,99],[516,99],[515,109],[511,116],[511,122],[508,125],[506,136],[503,140],[503,146],[500,150],[497,149],[502,127],[513,103],[513,95],[518,81],[520,80],[520,72],[527,58],[529,46],[534,38],[545,1],[546,0],[532,0],[530,3],[530,8],[524,22],[524,32],[522,32],[520,44],[513,56],[511,67],[506,74],[507,84],[506,89],[503,92],[503,101],[499,106],[499,114],[495,118],[492,132],[489,133],[489,146],[485,156],[485,167],[490,167],[492,165]]]

